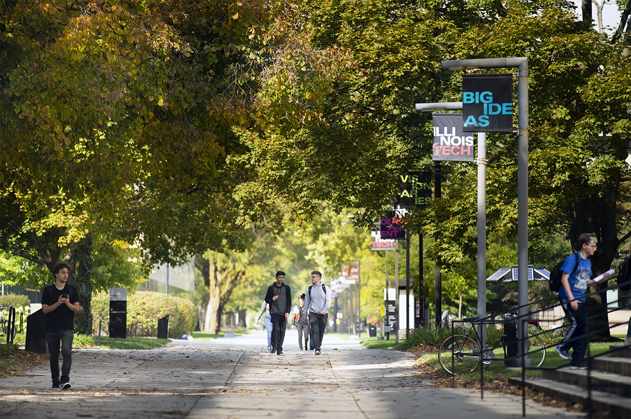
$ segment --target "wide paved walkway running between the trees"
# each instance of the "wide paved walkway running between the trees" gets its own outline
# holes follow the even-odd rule
[[[265,351],[257,331],[212,341],[173,341],[156,350],[73,354],[68,391],[52,391],[48,365],[0,379],[9,418],[519,418],[521,398],[439,389],[412,369],[409,353],[368,350],[325,336],[322,355]],[[576,418],[528,401],[528,418]]]

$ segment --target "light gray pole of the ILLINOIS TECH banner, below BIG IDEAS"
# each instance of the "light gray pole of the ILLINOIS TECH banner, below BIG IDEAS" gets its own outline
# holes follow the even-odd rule
[[[487,133],[478,133],[478,317],[487,317]],[[487,341],[487,325],[480,324]]]

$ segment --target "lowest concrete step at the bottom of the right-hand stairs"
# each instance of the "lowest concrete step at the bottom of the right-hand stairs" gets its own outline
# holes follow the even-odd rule
[[[509,378],[513,384],[521,386],[521,378]],[[582,387],[557,382],[543,378],[526,379],[526,386],[572,403],[582,403],[587,409],[588,391]],[[594,411],[609,412],[608,418],[631,417],[631,403],[628,398],[604,391],[592,391],[592,409]],[[528,414],[528,411],[526,411]]]

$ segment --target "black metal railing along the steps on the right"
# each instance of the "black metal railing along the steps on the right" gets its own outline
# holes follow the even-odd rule
[[[610,280],[616,278],[616,276],[611,276]],[[600,295],[603,293],[608,292],[609,290],[616,290],[619,289],[622,286],[628,286],[631,283],[631,281],[627,281],[624,283],[617,283],[616,285],[612,285],[612,286],[608,286],[607,288],[603,288],[602,290],[598,290],[596,292],[593,293],[587,293],[585,295],[586,298],[594,296],[594,295]],[[606,300],[606,297],[605,297]],[[620,306],[620,293],[618,293],[618,300],[616,300],[615,302],[618,305],[617,308],[615,309],[607,309],[607,314],[609,315],[611,312],[615,312],[618,310],[623,310],[623,309],[628,309],[631,307],[631,304],[625,304]],[[545,305],[547,304],[545,307],[541,308],[541,309],[536,309],[536,310],[531,310],[531,308],[533,306],[536,307],[540,307],[541,305]],[[519,309],[521,309],[522,307],[528,307],[528,312],[526,314],[526,316],[519,316],[519,314],[516,315],[516,319],[504,319],[504,320],[495,320],[496,317],[502,316],[502,314],[493,314],[491,316],[487,316],[487,317],[483,317],[483,318],[478,318],[478,317],[472,317],[470,319],[464,319],[463,321],[452,321],[452,327],[451,327],[451,333],[452,333],[452,339],[454,339],[454,323],[468,323],[468,324],[476,324],[478,327],[478,331],[476,334],[478,334],[480,336],[479,339],[479,345],[480,345],[480,397],[484,398],[484,367],[485,367],[485,362],[483,362],[483,353],[485,351],[485,346],[486,345],[486,336],[485,333],[483,333],[484,328],[482,326],[487,326],[490,324],[507,324],[507,322],[511,322],[511,321],[517,321],[517,325],[519,325],[518,330],[522,331],[521,333],[519,333],[519,337],[517,338],[511,338],[510,336],[507,335],[502,335],[502,339],[504,339],[500,345],[506,347],[515,347],[517,346],[517,348],[520,348],[520,350],[517,351],[517,355],[512,355],[512,354],[507,354],[507,356],[505,356],[504,361],[505,362],[511,362],[514,360],[518,360],[519,358],[521,358],[521,362],[519,362],[519,365],[521,365],[521,382],[522,382],[522,416],[526,416],[526,370],[541,370],[541,369],[559,369],[562,367],[567,367],[567,365],[569,365],[569,363],[563,363],[562,365],[558,365],[557,367],[546,367],[545,366],[545,362],[543,363],[543,365],[538,366],[538,367],[528,367],[527,366],[527,359],[529,358],[530,355],[538,355],[538,353],[540,351],[545,351],[548,348],[554,348],[555,346],[557,346],[557,343],[554,343],[553,345],[542,345],[540,348],[537,348],[536,350],[529,350],[529,345],[528,345],[528,341],[526,340],[527,338],[522,336],[522,334],[524,334],[524,332],[526,332],[526,336],[528,336],[528,339],[532,338],[533,336],[538,336],[541,337],[544,334],[548,334],[550,332],[553,331],[560,331],[561,329],[563,329],[565,326],[563,326],[563,319],[565,319],[565,313],[563,313],[563,317],[559,317],[557,319],[553,319],[553,321],[555,321],[555,323],[560,323],[561,326],[557,326],[556,328],[552,328],[552,329],[546,329],[546,330],[541,330],[538,331],[537,333],[533,333],[533,334],[528,334],[528,322],[532,321],[532,317],[534,314],[538,314],[540,312],[546,312],[548,310],[554,310],[555,307],[560,307],[561,303],[558,300],[558,295],[554,294],[554,295],[550,295],[550,297],[545,297],[545,298],[541,298],[540,300],[536,300],[534,302],[530,302],[526,305],[520,305],[517,307],[514,307],[513,309],[508,310],[509,312],[519,312]],[[605,302],[605,305],[608,305],[608,303]],[[586,307],[587,310],[587,307]],[[589,310],[587,310],[587,314],[589,314]],[[609,326],[609,324],[603,328],[596,328],[594,329],[593,326],[590,326],[590,320],[593,320],[594,318],[598,317],[601,313],[597,313],[597,314],[593,314],[591,316],[587,316],[586,319],[586,331],[584,334],[580,335],[580,336],[573,336],[571,339],[568,340],[568,342],[573,342],[573,341],[577,341],[579,339],[586,339],[586,357],[584,358],[584,360],[587,362],[587,411],[589,414],[589,418],[591,418],[593,416],[593,404],[592,404],[592,390],[593,387],[598,387],[598,384],[594,384],[591,381],[591,370],[592,370],[592,361],[595,358],[598,357],[602,357],[604,355],[608,355],[609,353],[611,353],[611,350],[608,351],[604,351],[601,353],[598,353],[596,355],[592,355],[591,354],[591,350],[589,348],[589,336],[591,336],[592,334],[598,334],[598,333],[602,333],[605,330],[611,329],[611,328],[615,328],[616,326],[622,326],[624,324],[628,324],[628,320],[627,321],[623,321],[620,323],[615,323],[613,324],[613,326]],[[482,331],[482,332],[480,332]],[[499,346],[495,346],[495,348],[498,348]],[[453,351],[454,346],[452,345],[452,373],[454,372],[454,351]],[[526,350],[526,348],[528,348],[528,350]],[[509,351],[510,352],[510,351]],[[540,355],[540,354],[539,354]],[[456,379],[456,375],[452,374],[452,386],[455,386],[455,379]],[[611,384],[608,384],[608,386],[611,386]]]

